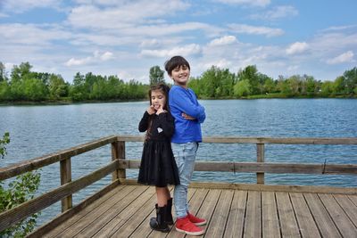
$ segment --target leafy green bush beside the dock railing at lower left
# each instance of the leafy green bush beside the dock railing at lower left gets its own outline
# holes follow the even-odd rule
[[[6,144],[10,143],[9,133],[5,133],[0,139],[0,156],[4,159]],[[0,212],[12,209],[25,201],[33,199],[40,184],[40,174],[37,171],[28,172],[17,176],[8,185],[0,181]],[[33,231],[36,226],[38,214],[21,220],[16,225],[0,232],[0,237],[24,237]]]

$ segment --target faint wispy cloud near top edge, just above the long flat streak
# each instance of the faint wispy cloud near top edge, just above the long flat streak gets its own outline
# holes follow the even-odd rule
[[[272,10],[267,12],[260,12],[253,14],[251,18],[253,19],[262,19],[267,21],[272,21],[276,19],[294,17],[297,16],[299,12],[291,5],[281,5],[274,7]]]

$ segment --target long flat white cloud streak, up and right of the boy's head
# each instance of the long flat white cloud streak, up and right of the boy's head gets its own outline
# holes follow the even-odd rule
[[[254,27],[245,24],[229,24],[228,28],[236,33],[243,33],[249,35],[265,35],[267,37],[278,37],[284,34],[284,31],[282,29]]]

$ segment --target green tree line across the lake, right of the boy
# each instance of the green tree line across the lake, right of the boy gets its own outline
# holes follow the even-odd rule
[[[188,83],[200,98],[337,97],[357,95],[357,68],[346,70],[335,81],[321,81],[308,75],[273,79],[249,65],[237,74],[212,66]]]

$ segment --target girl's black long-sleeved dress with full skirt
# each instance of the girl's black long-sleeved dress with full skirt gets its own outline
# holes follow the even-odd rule
[[[165,187],[179,185],[179,169],[173,157],[170,138],[175,124],[170,112],[150,115],[145,111],[139,131],[146,132],[137,183]]]

